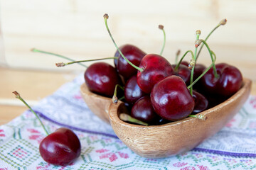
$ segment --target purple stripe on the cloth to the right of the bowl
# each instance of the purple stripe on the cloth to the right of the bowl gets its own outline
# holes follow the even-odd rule
[[[256,154],[225,152],[225,151],[220,151],[220,150],[203,149],[203,148],[197,148],[197,147],[192,149],[192,151],[207,152],[210,154],[220,154],[220,155],[225,155],[225,156],[229,156],[229,157],[256,157]]]

